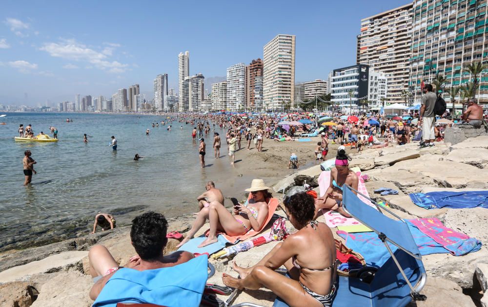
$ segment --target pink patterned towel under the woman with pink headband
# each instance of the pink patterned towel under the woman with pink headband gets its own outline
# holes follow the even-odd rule
[[[366,190],[365,182],[361,176],[361,170],[357,167],[352,168],[351,170],[358,175],[358,178],[359,178],[358,191],[369,197],[369,193]],[[323,171],[319,175],[319,189],[320,189],[320,196],[321,197],[325,195],[325,192],[327,191],[329,185],[330,185],[330,171]],[[362,195],[358,194],[358,197],[366,205],[374,207],[374,205],[369,200],[367,200],[365,197],[363,197]],[[322,212],[324,213],[325,224],[327,224],[327,226],[330,228],[337,227],[337,226],[363,225],[361,222],[359,222],[355,218],[345,217],[344,215],[341,215],[340,213],[338,213],[336,211],[322,210]]]

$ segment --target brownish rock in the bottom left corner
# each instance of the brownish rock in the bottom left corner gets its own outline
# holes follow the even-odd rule
[[[26,282],[12,282],[0,285],[0,306],[29,307],[37,295],[36,289]]]

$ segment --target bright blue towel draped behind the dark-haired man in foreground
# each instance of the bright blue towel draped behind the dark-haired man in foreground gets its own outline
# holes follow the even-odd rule
[[[116,307],[117,303],[199,306],[208,279],[207,264],[207,257],[201,256],[170,268],[118,269],[93,307]]]

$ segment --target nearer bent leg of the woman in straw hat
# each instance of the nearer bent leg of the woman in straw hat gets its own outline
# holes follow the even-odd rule
[[[209,244],[217,242],[217,230],[224,230],[228,235],[244,234],[245,229],[243,224],[239,223],[232,213],[230,213],[224,205],[217,201],[210,203],[208,207],[208,220],[210,221],[210,230],[208,237],[198,247],[204,247]],[[219,227],[220,226],[220,227]]]

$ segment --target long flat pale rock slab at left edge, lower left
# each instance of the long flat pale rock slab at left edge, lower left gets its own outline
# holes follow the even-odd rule
[[[39,261],[10,268],[0,272],[0,283],[11,282],[26,278],[38,273],[51,273],[58,271],[82,270],[82,259],[88,255],[88,251],[65,251],[49,256]]]

